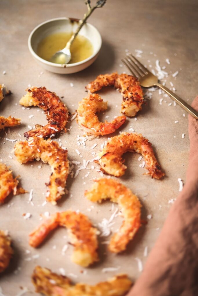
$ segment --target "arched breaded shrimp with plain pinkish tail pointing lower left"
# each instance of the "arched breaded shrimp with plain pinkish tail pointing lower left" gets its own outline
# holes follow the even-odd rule
[[[98,261],[97,229],[92,226],[87,216],[70,210],[56,213],[44,221],[29,235],[29,244],[32,247],[39,246],[48,233],[58,226],[69,229],[71,242],[75,247],[72,254],[73,262],[86,267]]]

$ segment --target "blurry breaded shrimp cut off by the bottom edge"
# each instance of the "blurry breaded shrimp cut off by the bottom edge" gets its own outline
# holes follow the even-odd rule
[[[66,276],[51,272],[48,268],[36,266],[32,274],[36,292],[48,296],[117,296],[125,295],[132,286],[126,274],[116,275],[107,281],[92,286],[83,283],[72,284]]]

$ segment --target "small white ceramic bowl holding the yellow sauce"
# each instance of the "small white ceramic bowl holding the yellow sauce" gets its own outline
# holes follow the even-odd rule
[[[85,23],[79,32],[80,35],[88,38],[93,45],[94,52],[87,59],[78,63],[61,65],[48,62],[39,57],[36,53],[37,46],[42,39],[53,33],[73,32],[78,26],[78,21],[78,19],[59,17],[42,22],[30,33],[28,38],[28,48],[37,63],[39,63],[39,65],[41,65],[44,69],[53,73],[69,74],[79,72],[90,66],[95,61],[102,45],[102,38],[99,31],[93,25],[88,23]]]

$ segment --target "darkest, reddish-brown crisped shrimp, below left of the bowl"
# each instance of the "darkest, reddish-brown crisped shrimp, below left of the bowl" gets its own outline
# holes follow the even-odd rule
[[[66,131],[69,111],[59,97],[55,93],[47,91],[45,87],[28,89],[27,94],[20,99],[19,103],[25,107],[38,106],[44,110],[48,120],[46,126],[36,125],[35,130],[25,132],[26,138],[33,136],[47,138],[51,134],[62,130]]]

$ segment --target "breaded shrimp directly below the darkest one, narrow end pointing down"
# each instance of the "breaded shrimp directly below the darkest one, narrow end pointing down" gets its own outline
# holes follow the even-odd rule
[[[67,150],[60,148],[56,141],[37,137],[17,142],[14,150],[19,163],[27,163],[34,159],[49,163],[52,174],[50,182],[46,184],[48,186],[47,201],[56,205],[56,201],[65,194],[66,179],[69,173]]]

